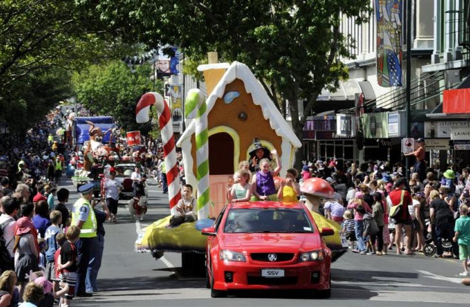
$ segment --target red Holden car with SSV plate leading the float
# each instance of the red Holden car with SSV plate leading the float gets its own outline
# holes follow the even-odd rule
[[[330,297],[331,251],[322,236],[333,229],[319,230],[303,204],[231,203],[202,234],[213,298],[248,289],[308,289]]]

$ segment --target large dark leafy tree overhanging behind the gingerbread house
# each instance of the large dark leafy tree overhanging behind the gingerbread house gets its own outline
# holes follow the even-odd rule
[[[339,31],[344,16],[369,18],[370,0],[82,0],[128,42],[176,44],[191,58],[218,51],[246,63],[285,114],[299,138],[322,88],[348,77],[341,59],[355,42]],[[298,100],[308,101],[299,117]],[[296,162],[302,160],[298,150]]]

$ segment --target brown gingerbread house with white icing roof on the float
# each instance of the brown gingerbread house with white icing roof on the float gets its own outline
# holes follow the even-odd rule
[[[301,142],[282,117],[266,90],[251,70],[233,62],[200,65],[204,74],[208,133],[210,199],[214,205],[210,216],[218,214],[226,203],[228,176],[238,170],[241,161],[249,159],[258,138],[268,149],[276,149],[282,171],[292,167],[295,149]],[[177,146],[182,148],[186,181],[196,187],[195,121],[182,134]]]

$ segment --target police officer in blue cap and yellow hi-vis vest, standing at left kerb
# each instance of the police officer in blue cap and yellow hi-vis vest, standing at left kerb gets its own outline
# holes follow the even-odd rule
[[[82,194],[72,207],[72,225],[80,228],[80,240],[77,241],[78,253],[77,282],[75,285],[75,295],[90,297],[93,293],[85,292],[85,278],[87,267],[90,262],[90,255],[96,245],[96,217],[94,215],[91,201],[93,200],[93,183],[87,183],[78,188]]]

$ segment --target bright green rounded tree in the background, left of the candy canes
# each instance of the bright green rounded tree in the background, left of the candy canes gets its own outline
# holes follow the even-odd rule
[[[125,131],[141,130],[146,134],[151,124],[136,123],[136,104],[142,94],[153,89],[149,79],[152,66],[137,66],[132,72],[124,63],[112,61],[91,65],[72,78],[77,99],[95,115],[113,116]],[[161,91],[158,80],[155,90]]]

